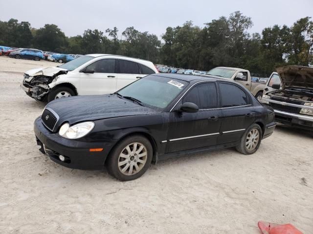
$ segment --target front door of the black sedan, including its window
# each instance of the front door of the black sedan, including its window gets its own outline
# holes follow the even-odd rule
[[[179,106],[192,102],[196,113],[180,112]],[[221,127],[216,82],[201,82],[191,88],[170,113],[166,153],[215,146]]]

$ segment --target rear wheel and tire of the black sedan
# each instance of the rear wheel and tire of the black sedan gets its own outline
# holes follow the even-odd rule
[[[254,123],[241,137],[240,144],[236,146],[236,150],[244,155],[254,154],[261,144],[262,129],[260,125]]]

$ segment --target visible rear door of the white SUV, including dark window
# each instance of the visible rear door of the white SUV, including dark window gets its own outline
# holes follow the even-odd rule
[[[116,59],[116,72],[116,90],[144,77],[144,75],[140,74],[138,63],[127,59]]]

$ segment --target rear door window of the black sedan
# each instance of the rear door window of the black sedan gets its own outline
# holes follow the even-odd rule
[[[248,95],[237,85],[220,83],[222,107],[244,106],[249,104]]]

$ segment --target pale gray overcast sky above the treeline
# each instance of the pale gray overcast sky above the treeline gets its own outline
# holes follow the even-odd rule
[[[58,25],[67,36],[86,29],[116,26],[119,35],[128,26],[160,37],[166,27],[192,20],[195,25],[241,11],[251,17],[249,32],[262,32],[274,24],[291,26],[313,16],[313,0],[0,0],[0,20],[29,21],[34,28]]]

